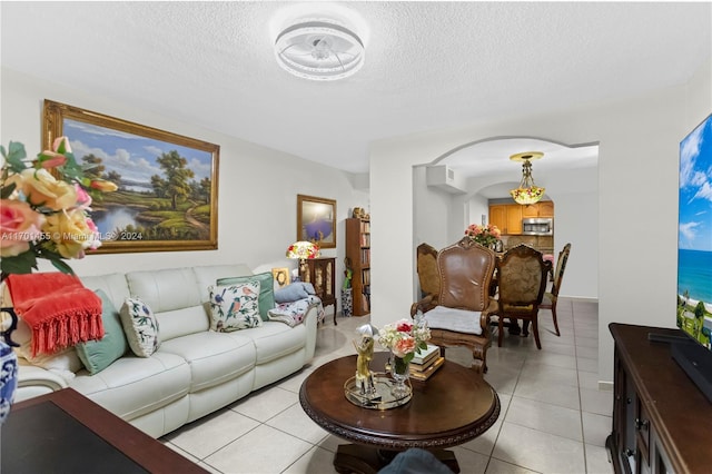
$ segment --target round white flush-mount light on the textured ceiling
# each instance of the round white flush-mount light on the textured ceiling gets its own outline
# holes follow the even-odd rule
[[[353,76],[364,65],[364,43],[350,29],[333,20],[300,20],[275,40],[277,62],[288,72],[313,80]]]

